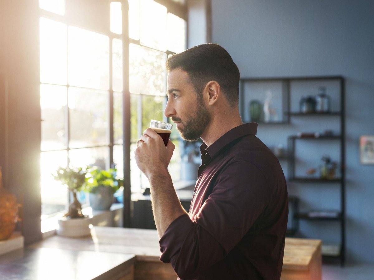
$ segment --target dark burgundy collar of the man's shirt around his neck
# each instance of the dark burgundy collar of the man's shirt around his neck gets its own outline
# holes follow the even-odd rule
[[[221,150],[224,146],[226,146],[230,142],[245,135],[256,135],[256,134],[257,134],[257,123],[256,122],[249,122],[247,124],[242,124],[227,131],[225,134],[223,134],[223,136],[218,138],[209,147],[205,143],[202,143],[200,146],[200,152],[202,153],[206,149],[207,152],[209,153],[209,156],[212,158],[219,150]]]

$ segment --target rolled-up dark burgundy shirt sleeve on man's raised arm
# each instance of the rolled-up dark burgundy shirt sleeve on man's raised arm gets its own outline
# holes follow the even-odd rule
[[[160,260],[171,262],[181,279],[195,279],[224,259],[266,208],[264,186],[266,179],[254,165],[227,165],[199,211],[191,218],[181,215],[166,229]]]

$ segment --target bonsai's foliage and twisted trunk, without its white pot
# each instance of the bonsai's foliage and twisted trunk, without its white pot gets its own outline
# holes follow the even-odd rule
[[[59,167],[56,172],[52,174],[55,180],[60,181],[63,185],[66,185],[68,190],[73,195],[73,202],[71,202],[69,205],[69,210],[64,217],[72,219],[87,217],[82,214],[82,205],[77,199],[77,192],[80,192],[85,184],[86,174],[87,170],[83,169],[82,167]]]

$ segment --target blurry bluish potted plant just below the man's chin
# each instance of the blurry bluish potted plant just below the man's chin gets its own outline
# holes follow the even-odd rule
[[[181,145],[181,180],[196,180],[200,165],[200,145],[202,140],[184,141]]]

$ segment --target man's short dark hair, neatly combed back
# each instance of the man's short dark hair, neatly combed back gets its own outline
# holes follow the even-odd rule
[[[166,60],[168,72],[181,68],[188,73],[197,94],[206,83],[217,81],[230,106],[239,102],[240,72],[229,53],[218,44],[202,44],[172,55]]]

